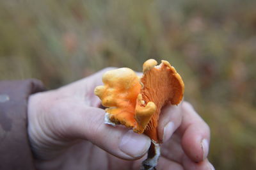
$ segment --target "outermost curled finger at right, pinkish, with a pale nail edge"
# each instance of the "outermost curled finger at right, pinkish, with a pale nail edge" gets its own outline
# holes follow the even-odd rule
[[[207,158],[210,142],[210,128],[188,102],[182,103],[182,123],[177,129],[182,138],[182,148],[195,162]]]

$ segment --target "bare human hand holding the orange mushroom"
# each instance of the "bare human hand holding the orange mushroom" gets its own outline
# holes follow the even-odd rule
[[[150,139],[104,124],[104,109],[93,94],[110,69],[29,97],[28,134],[36,169],[140,169]],[[211,169],[209,127],[190,104],[165,107],[158,132],[164,143],[157,169]]]

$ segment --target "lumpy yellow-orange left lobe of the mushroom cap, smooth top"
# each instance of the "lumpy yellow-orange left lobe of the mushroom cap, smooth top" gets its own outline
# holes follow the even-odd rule
[[[104,73],[102,82],[104,86],[97,86],[94,93],[104,107],[109,107],[106,121],[136,127],[134,110],[141,89],[138,75],[130,68],[118,68]]]

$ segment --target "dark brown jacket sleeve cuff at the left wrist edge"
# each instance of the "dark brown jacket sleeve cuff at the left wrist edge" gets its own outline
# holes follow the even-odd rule
[[[44,91],[42,82],[0,81],[0,169],[35,169],[27,132],[29,95]]]

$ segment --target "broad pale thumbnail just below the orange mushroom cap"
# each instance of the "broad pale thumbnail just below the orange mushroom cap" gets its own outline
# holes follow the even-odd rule
[[[129,156],[137,158],[147,152],[150,143],[150,138],[146,135],[136,134],[129,130],[122,137],[119,149]]]

